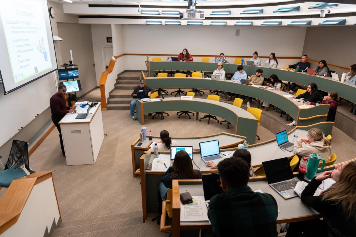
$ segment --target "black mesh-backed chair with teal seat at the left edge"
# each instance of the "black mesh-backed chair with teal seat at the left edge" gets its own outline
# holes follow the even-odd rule
[[[2,156],[0,156],[1,158]],[[28,143],[13,140],[9,159],[4,171],[0,172],[0,187],[8,188],[13,180],[35,173],[28,162]]]

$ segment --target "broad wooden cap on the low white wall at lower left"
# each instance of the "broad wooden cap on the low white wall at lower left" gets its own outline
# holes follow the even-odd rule
[[[33,186],[52,177],[53,171],[37,172],[12,181],[10,187],[0,200],[0,234],[4,233],[17,222]]]

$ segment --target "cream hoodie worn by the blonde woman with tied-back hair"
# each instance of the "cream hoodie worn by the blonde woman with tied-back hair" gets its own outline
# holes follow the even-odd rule
[[[309,157],[310,153],[316,153],[326,162],[330,161],[331,147],[324,146],[324,141],[314,141],[310,142],[308,145],[303,147],[303,142],[298,139],[294,142],[294,153],[302,157]]]

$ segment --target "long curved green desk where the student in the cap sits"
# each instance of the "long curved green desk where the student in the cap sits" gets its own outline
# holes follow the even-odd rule
[[[257,98],[261,101],[266,101],[278,108],[281,108],[296,121],[297,126],[307,126],[310,124],[325,122],[329,111],[329,104],[321,104],[310,108],[300,108],[297,101],[283,96],[290,95],[287,92],[266,90],[257,86],[231,82],[230,80],[218,81],[202,79],[200,77],[144,77],[144,75],[143,78],[146,81],[146,85],[151,88],[200,88],[206,90],[227,91]],[[215,113],[214,115],[221,117],[221,114],[219,115],[218,113]],[[245,136],[245,134],[240,133],[239,131],[237,131],[237,134]],[[249,139],[249,136],[247,136],[247,139]],[[251,141],[248,142],[252,144]]]

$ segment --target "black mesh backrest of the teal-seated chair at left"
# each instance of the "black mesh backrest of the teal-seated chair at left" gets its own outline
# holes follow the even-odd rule
[[[30,170],[30,164],[28,162],[28,144],[26,141],[13,140],[9,159],[5,165],[5,169],[14,168],[21,162],[25,163],[27,170]],[[33,173],[33,172],[30,172]]]

